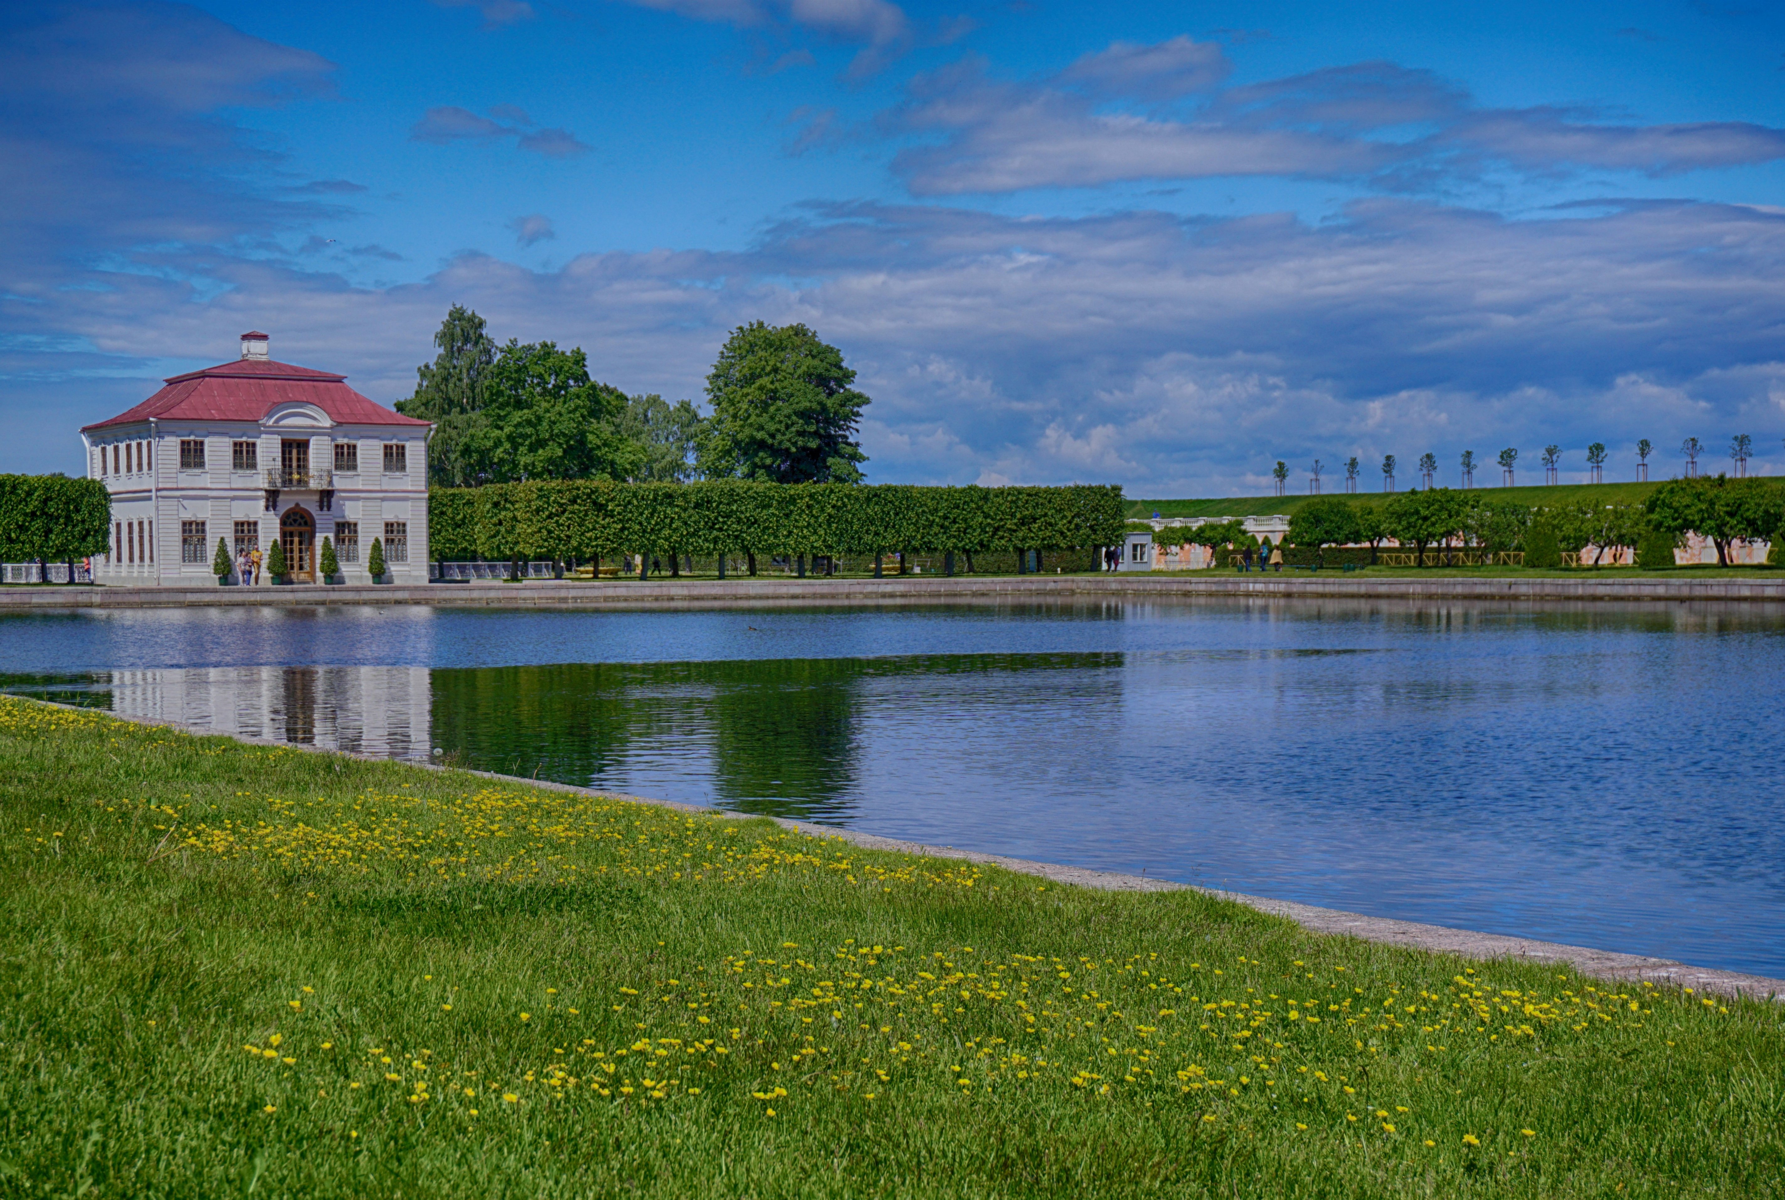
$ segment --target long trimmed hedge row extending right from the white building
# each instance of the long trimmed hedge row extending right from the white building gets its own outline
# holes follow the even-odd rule
[[[539,480],[428,493],[428,557],[919,554],[1121,541],[1121,488],[614,484]]]

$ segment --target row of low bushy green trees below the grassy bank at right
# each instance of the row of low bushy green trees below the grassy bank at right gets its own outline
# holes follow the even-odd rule
[[[1624,548],[1673,562],[1673,550],[1685,545],[1689,534],[1698,534],[1717,546],[1717,562],[1728,566],[1731,543],[1776,539],[1781,527],[1785,488],[1760,479],[1699,475],[1667,480],[1644,504],[1533,507],[1451,488],[1405,491],[1380,504],[1321,496],[1291,514],[1285,541],[1319,554],[1326,546],[1366,545],[1374,552],[1392,539],[1416,548],[1421,562],[1428,546],[1521,550],[1526,566],[1549,566],[1562,552],[1578,554],[1589,546],[1596,550],[1594,562]],[[1241,520],[1173,532],[1185,543],[1210,548],[1248,543]]]

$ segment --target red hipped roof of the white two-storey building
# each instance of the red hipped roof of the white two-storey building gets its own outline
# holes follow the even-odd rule
[[[314,404],[336,425],[428,425],[359,395],[346,386],[346,375],[270,359],[221,362],[175,375],[166,384],[129,412],[86,425],[80,432],[152,416],[164,421],[259,421],[280,404]]]

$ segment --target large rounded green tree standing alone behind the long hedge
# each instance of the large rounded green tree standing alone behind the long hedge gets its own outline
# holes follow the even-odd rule
[[[859,484],[855,443],[868,396],[843,352],[805,325],[732,330],[707,375],[712,404],[700,470],[709,479]]]

